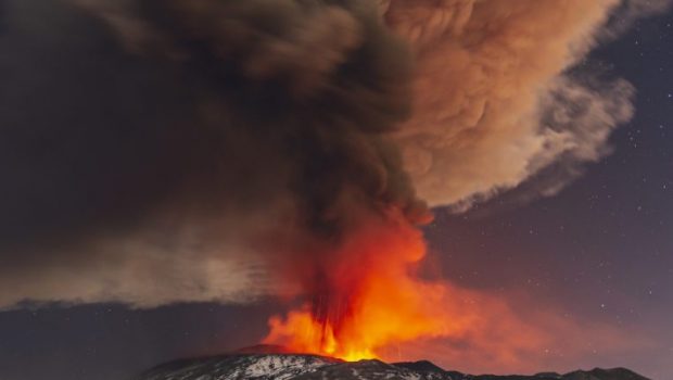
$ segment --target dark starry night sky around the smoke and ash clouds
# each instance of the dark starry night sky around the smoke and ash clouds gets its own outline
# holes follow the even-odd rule
[[[532,366],[541,371],[622,366],[671,379],[673,12],[636,22],[587,64],[637,89],[635,117],[612,135],[613,153],[550,198],[522,200],[525,189],[513,189],[467,213],[435,208],[435,220],[424,227],[431,259],[460,286],[518,294],[515,307],[550,305],[587,327],[611,326],[633,339],[632,349],[604,352],[587,334],[577,345],[597,349],[581,359],[549,347],[548,358],[541,355]],[[172,358],[255,344],[268,316],[281,309],[263,300],[4,311],[0,378],[118,380]],[[440,364],[466,370],[460,363]]]

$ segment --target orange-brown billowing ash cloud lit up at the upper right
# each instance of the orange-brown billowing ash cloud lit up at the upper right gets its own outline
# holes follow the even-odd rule
[[[414,114],[395,137],[419,194],[461,210],[560,165],[561,176],[537,187],[553,194],[608,153],[634,89],[583,60],[618,5],[391,1],[385,17],[417,56]]]

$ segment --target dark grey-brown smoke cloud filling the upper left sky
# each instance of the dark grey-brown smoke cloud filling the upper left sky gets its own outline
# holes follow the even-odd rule
[[[373,3],[78,5],[8,3],[0,305],[244,300],[259,252],[427,217],[385,138],[410,55]]]

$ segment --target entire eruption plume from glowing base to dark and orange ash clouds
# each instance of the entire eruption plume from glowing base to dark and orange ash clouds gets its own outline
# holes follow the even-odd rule
[[[305,306],[270,319],[267,343],[360,358],[442,338],[520,368],[526,353],[572,341],[576,327],[553,312],[531,325],[497,297],[423,279],[423,200],[465,210],[526,180],[526,197],[550,195],[609,153],[634,90],[579,63],[619,31],[615,14],[668,3],[63,5],[63,36],[53,38],[77,35],[80,46],[43,68],[84,80],[68,98],[53,93],[63,83],[45,85],[38,101],[55,99],[58,111],[0,116],[15,125],[1,162],[30,173],[8,172],[2,250],[22,255],[0,256],[11,264],[0,268],[14,268],[0,269],[0,305],[302,296]],[[10,5],[18,18],[55,7]],[[5,35],[51,49],[21,28]],[[46,65],[4,49],[15,75],[3,81],[21,80],[22,60]],[[90,106],[76,106],[85,99]],[[18,160],[45,134],[55,148]],[[43,178],[58,181],[34,186]],[[30,233],[10,227],[16,219]],[[620,346],[613,331],[593,330]]]

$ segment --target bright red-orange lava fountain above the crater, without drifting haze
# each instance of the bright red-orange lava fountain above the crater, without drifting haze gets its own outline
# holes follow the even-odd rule
[[[359,360],[391,344],[443,335],[446,289],[417,276],[422,235],[402,217],[392,220],[360,226],[338,252],[320,255],[303,279],[312,302],[271,317],[264,343]]]

